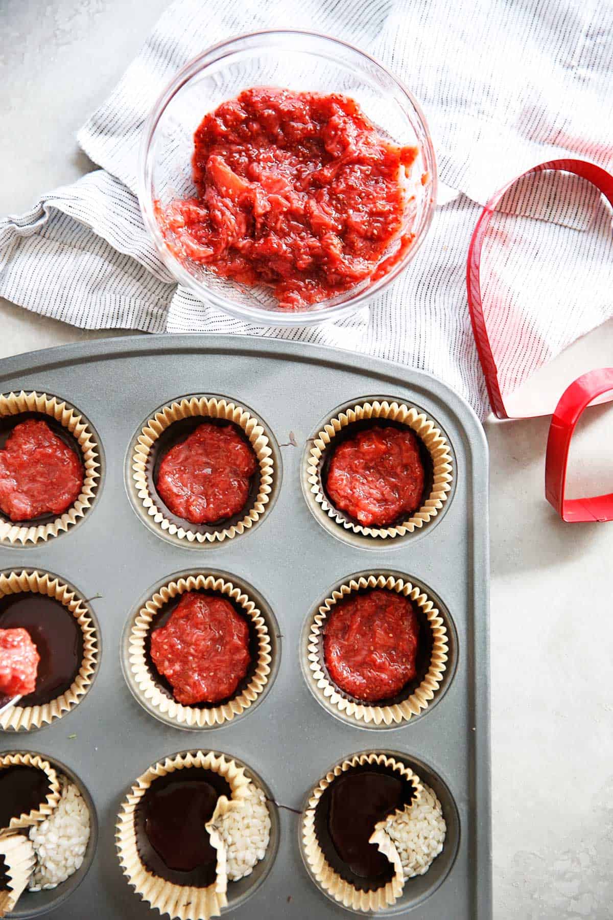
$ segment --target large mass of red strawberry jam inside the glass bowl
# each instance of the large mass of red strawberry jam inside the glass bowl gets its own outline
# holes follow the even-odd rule
[[[265,284],[295,309],[377,281],[403,258],[417,155],[381,137],[351,98],[255,87],[204,118],[197,197],[157,201],[156,217],[180,261]]]

